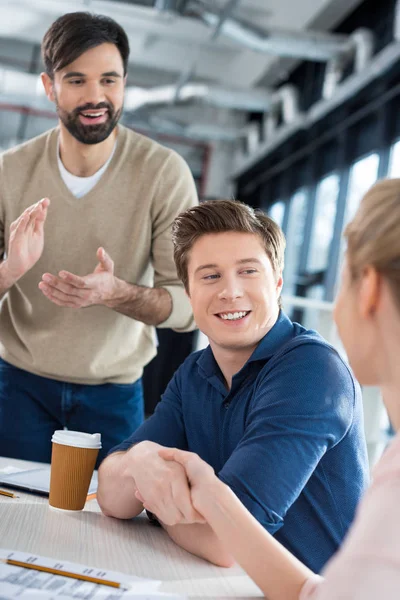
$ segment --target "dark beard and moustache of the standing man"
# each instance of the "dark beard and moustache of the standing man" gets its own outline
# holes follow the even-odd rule
[[[60,107],[56,99],[57,114],[69,133],[81,144],[99,144],[108,138],[115,129],[121,116],[122,108],[115,110],[112,104],[100,102],[99,104],[85,104],[78,106],[72,112],[68,113]],[[85,110],[96,110],[106,108],[108,110],[108,119],[105,123],[97,125],[83,125],[80,122],[79,114]]]

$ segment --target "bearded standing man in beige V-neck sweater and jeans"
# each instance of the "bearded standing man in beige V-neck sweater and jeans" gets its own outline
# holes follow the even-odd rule
[[[122,27],[69,13],[42,53],[58,127],[0,157],[0,455],[49,462],[68,427],[100,432],[101,458],[143,421],[154,326],[194,327],[171,224],[197,196],[182,158],[118,124]]]

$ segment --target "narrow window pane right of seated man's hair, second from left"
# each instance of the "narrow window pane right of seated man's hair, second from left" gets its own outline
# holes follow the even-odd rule
[[[296,292],[296,277],[299,270],[301,248],[304,241],[304,227],[307,216],[307,192],[297,190],[289,205],[289,220],[286,232],[285,269],[283,273],[283,293],[292,296]]]

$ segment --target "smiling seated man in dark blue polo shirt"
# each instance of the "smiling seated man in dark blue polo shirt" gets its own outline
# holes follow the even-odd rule
[[[280,309],[284,237],[230,200],[179,215],[174,256],[209,346],[178,369],[155,414],[99,470],[103,512],[143,507],[215,564],[232,559],[196,513],[183,467],[199,454],[260,524],[315,572],[338,548],[368,482],[358,385],[338,353]],[[260,560],[262,557],[260,557]]]

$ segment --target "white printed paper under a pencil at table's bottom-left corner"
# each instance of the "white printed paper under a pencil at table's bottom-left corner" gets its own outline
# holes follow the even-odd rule
[[[116,571],[87,567],[77,563],[58,561],[27,552],[16,552],[0,548],[0,600],[181,600],[182,596],[157,592],[160,581],[126,575]],[[35,569],[17,567],[1,562],[12,559],[34,563],[50,569],[64,570],[97,579],[115,581],[127,589],[113,588],[89,581],[72,579]]]

